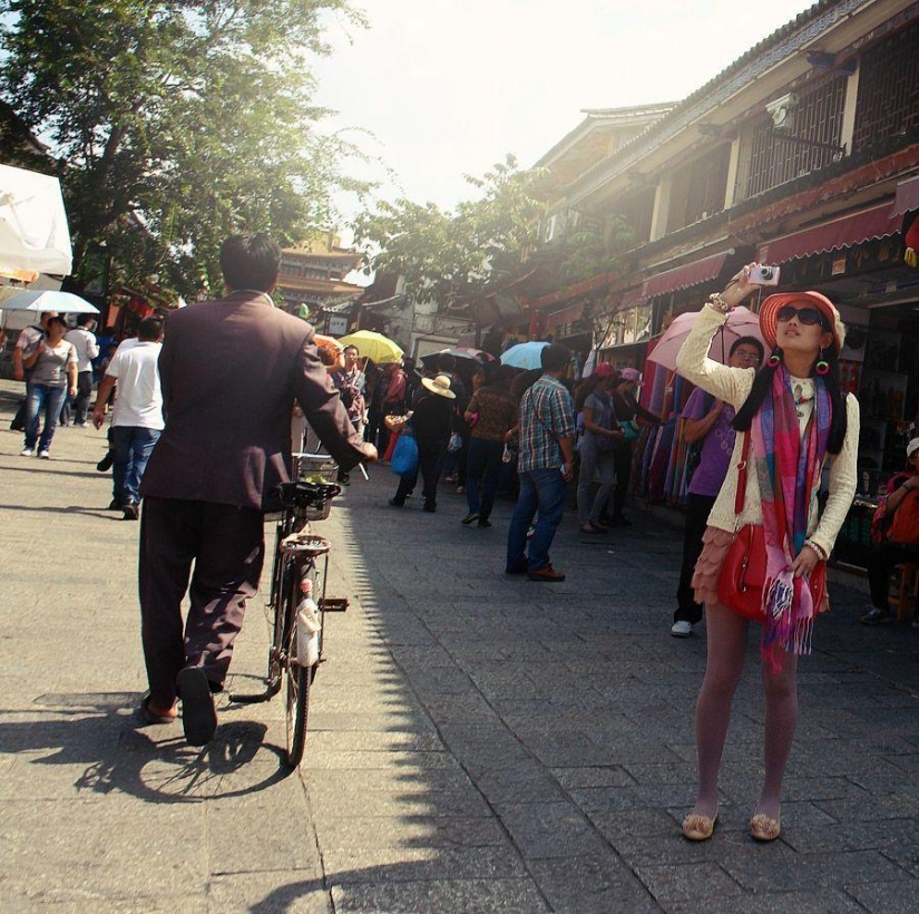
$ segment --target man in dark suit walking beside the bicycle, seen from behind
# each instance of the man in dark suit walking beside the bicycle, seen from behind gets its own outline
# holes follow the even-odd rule
[[[140,489],[150,684],[144,709],[149,720],[168,722],[180,699],[194,746],[214,736],[212,693],[223,688],[246,600],[258,587],[263,512],[289,478],[294,400],[343,470],[377,456],[329,382],[313,328],[273,307],[280,265],[281,249],[268,237],[227,239],[221,251],[227,296],[166,319],[159,357],[166,427]]]

